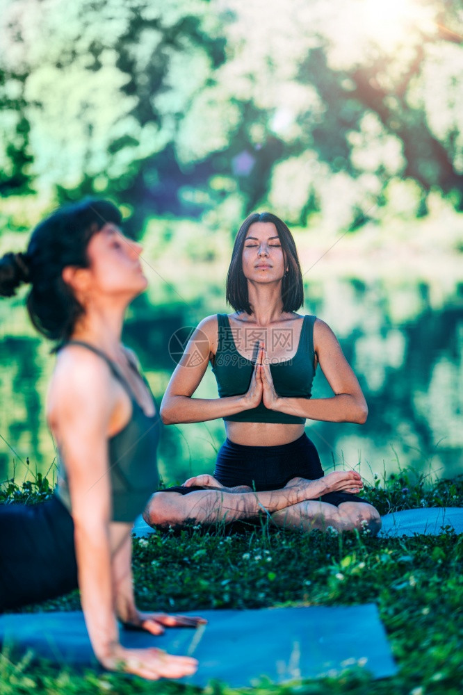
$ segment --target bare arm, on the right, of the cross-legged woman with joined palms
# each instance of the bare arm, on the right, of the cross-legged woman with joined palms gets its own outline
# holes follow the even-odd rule
[[[263,365],[259,371],[263,385],[263,403],[272,410],[311,420],[363,425],[368,416],[368,407],[360,384],[332,329],[320,319],[314,324],[314,350],[334,396],[309,399],[277,395],[270,368],[265,357],[262,357]]]

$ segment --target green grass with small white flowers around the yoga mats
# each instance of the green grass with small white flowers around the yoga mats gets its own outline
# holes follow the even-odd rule
[[[3,500],[49,494],[47,483],[3,486]],[[47,491],[48,490],[48,491]],[[363,494],[363,493],[362,493]],[[463,477],[432,484],[407,472],[375,481],[365,493],[382,513],[423,506],[462,506]],[[262,682],[257,695],[461,695],[463,691],[463,535],[375,539],[368,534],[269,532],[225,536],[222,529],[156,532],[133,541],[138,605],[181,612],[210,608],[354,605],[375,602],[398,675],[372,680],[361,668],[337,678],[284,686]],[[29,610],[73,610],[77,592]],[[120,674],[57,669],[0,656],[2,695],[113,692],[198,692],[172,682],[145,682]],[[210,695],[245,692],[211,684]]]

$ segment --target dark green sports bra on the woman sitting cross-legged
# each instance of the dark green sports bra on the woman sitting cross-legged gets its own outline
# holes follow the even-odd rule
[[[217,379],[220,398],[241,395],[249,389],[255,359],[244,357],[238,350],[226,313],[218,313],[218,345],[212,371]],[[273,384],[278,395],[286,398],[310,398],[315,376],[314,323],[316,316],[304,316],[298,350],[291,359],[270,364]],[[257,338],[256,338],[257,341]],[[256,408],[223,418],[238,423],[287,423],[303,425],[305,418],[269,410],[263,402]]]

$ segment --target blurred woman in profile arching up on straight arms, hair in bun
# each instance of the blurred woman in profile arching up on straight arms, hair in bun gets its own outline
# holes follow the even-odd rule
[[[161,423],[136,358],[121,343],[125,309],[147,280],[141,247],[120,223],[112,204],[84,201],[39,224],[26,254],[0,259],[0,294],[30,282],[33,325],[60,344],[47,419],[61,466],[51,499],[0,506],[0,610],[79,586],[104,667],[179,678],[196,671],[196,660],[127,649],[118,635],[117,618],[154,635],[201,621],[140,612],[133,597],[131,528],[158,484]]]

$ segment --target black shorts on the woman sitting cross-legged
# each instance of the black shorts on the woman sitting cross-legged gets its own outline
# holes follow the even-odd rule
[[[218,482],[227,487],[249,485],[257,492],[279,490],[293,477],[318,480],[323,477],[323,468],[314,443],[307,434],[289,444],[278,446],[246,446],[229,439],[220,447],[213,473]],[[165,492],[188,495],[201,486],[174,486]],[[322,502],[338,507],[341,502],[366,502],[367,500],[349,492],[329,492],[319,498]]]

